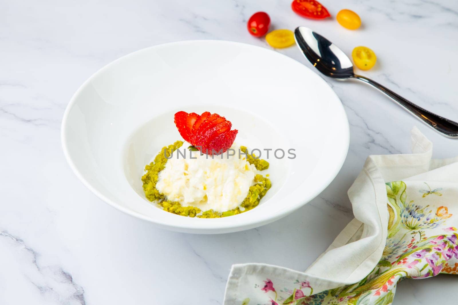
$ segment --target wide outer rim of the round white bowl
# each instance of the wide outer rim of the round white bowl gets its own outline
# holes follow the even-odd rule
[[[61,122],[61,125],[60,125],[60,141],[61,141],[61,145],[62,145],[62,150],[63,150],[64,155],[65,155],[65,160],[69,164],[71,170],[76,175],[76,177],[82,182],[82,184],[85,187],[87,187],[92,193],[94,193],[99,199],[102,199],[105,203],[109,204],[110,206],[114,207],[115,209],[117,209],[117,210],[119,210],[119,211],[121,211],[121,212],[123,212],[125,214],[128,214],[128,215],[133,216],[133,217],[138,218],[138,219],[146,220],[146,221],[148,221],[148,222],[150,222],[150,223],[152,223],[154,225],[158,225],[160,227],[167,228],[168,230],[174,230],[174,231],[180,231],[180,232],[189,232],[189,233],[200,233],[200,234],[218,234],[218,233],[236,232],[236,231],[241,231],[241,230],[249,230],[249,229],[256,228],[256,227],[259,227],[259,226],[262,226],[262,225],[266,225],[266,224],[271,223],[273,221],[276,221],[276,220],[278,220],[280,218],[283,218],[284,216],[286,216],[286,215],[294,212],[295,210],[301,208],[306,203],[310,202],[313,198],[316,198],[316,196],[318,196],[326,187],[328,187],[329,184],[338,175],[338,173],[341,170],[342,166],[344,165],[344,161],[345,161],[345,159],[346,159],[346,157],[348,155],[350,132],[349,132],[349,121],[348,121],[347,114],[346,114],[346,112],[344,110],[344,106],[343,106],[340,98],[337,96],[337,94],[333,90],[333,88],[331,86],[329,86],[329,84],[327,84],[327,82],[321,77],[321,75],[318,75],[317,73],[313,73],[313,74],[316,75],[317,80],[319,79],[320,81],[322,81],[324,83],[324,85],[327,86],[332,91],[332,93],[335,95],[337,100],[340,102],[338,104],[338,105],[341,106],[340,107],[340,112],[344,116],[344,120],[343,121],[345,123],[345,126],[343,126],[344,128],[343,128],[342,131],[343,131],[345,145],[342,146],[342,150],[341,150],[341,152],[339,152],[339,154],[338,154],[338,156],[336,158],[338,160],[335,163],[335,166],[334,166],[333,171],[332,171],[332,175],[328,175],[327,176],[328,178],[325,181],[323,180],[322,187],[316,188],[314,192],[311,192],[311,195],[307,196],[306,198],[302,198],[300,200],[300,203],[297,203],[297,204],[294,204],[294,205],[290,205],[289,207],[286,207],[286,208],[278,211],[278,213],[276,213],[276,214],[270,214],[270,215],[265,215],[263,217],[253,218],[253,220],[250,221],[250,222],[248,222],[248,221],[244,221],[242,223],[233,222],[233,223],[228,224],[228,225],[224,225],[222,223],[219,223],[219,225],[218,225],[218,219],[206,219],[206,221],[213,222],[214,225],[212,227],[208,227],[207,225],[201,226],[201,225],[198,225],[199,224],[198,222],[196,222],[195,226],[190,227],[189,225],[186,225],[183,222],[176,222],[176,223],[171,224],[168,221],[162,221],[162,219],[151,219],[147,215],[138,213],[138,212],[133,211],[131,209],[127,209],[124,206],[122,206],[122,205],[120,205],[118,203],[115,203],[111,199],[107,198],[104,194],[100,193],[95,187],[93,187],[88,182],[88,180],[86,178],[83,177],[82,173],[78,170],[78,168],[76,167],[74,161],[72,160],[72,158],[70,156],[69,149],[68,149],[68,147],[66,145],[67,141],[66,141],[66,137],[65,137],[65,130],[67,129],[69,113],[70,113],[71,109],[73,108],[73,106],[75,105],[77,97],[80,95],[80,93],[86,88],[86,86],[88,84],[90,84],[91,81],[99,73],[101,73],[102,71],[104,71],[106,69],[109,69],[109,67],[111,65],[117,63],[118,61],[126,59],[126,58],[128,58],[130,56],[134,56],[135,54],[140,53],[140,52],[145,52],[147,50],[154,49],[154,48],[163,48],[163,47],[169,47],[169,46],[180,45],[180,44],[185,44],[185,43],[202,43],[202,42],[204,42],[204,43],[219,43],[219,44],[234,44],[234,45],[241,45],[243,47],[248,47],[248,48],[256,48],[256,49],[258,49],[258,50],[260,50],[262,52],[271,52],[273,54],[276,54],[276,56],[284,57],[284,58],[289,59],[289,60],[293,60],[294,62],[296,62],[296,64],[300,64],[304,68],[311,70],[309,67],[307,67],[304,64],[300,63],[298,60],[293,59],[293,58],[291,58],[291,57],[289,57],[287,55],[278,53],[275,50],[267,49],[267,48],[264,48],[264,47],[260,47],[260,46],[256,46],[256,45],[252,45],[252,44],[248,44],[248,43],[240,43],[240,42],[227,41],[227,40],[197,39],[197,40],[176,41],[176,42],[158,44],[158,45],[150,46],[150,47],[147,47],[147,48],[142,48],[140,50],[131,52],[129,54],[125,54],[125,55],[121,56],[120,58],[109,62],[108,64],[104,65],[102,68],[100,68],[97,71],[95,71],[75,91],[75,93],[73,94],[73,96],[70,99],[70,102],[67,104],[67,106],[65,108],[64,115],[62,117],[62,122]],[[217,231],[217,230],[219,230],[219,231],[218,232],[214,232],[214,231]]]

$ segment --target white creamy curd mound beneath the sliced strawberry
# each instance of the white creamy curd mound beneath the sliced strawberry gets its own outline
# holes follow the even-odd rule
[[[181,146],[186,150],[185,158],[175,151],[159,172],[156,189],[168,200],[178,201],[183,206],[192,205],[202,211],[213,209],[225,212],[235,209],[248,195],[255,184],[256,167],[246,161],[242,153],[239,158],[239,146],[233,145],[235,155],[227,153],[201,155],[199,151],[187,149],[188,143]],[[178,155],[178,158],[177,158]],[[195,159],[194,159],[195,158]]]

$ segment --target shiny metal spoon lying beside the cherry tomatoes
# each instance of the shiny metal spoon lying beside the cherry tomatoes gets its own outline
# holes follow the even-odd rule
[[[387,87],[382,86],[367,77],[354,74],[353,64],[348,56],[325,37],[322,37],[307,27],[296,28],[294,30],[294,37],[296,39],[297,46],[302,50],[305,57],[322,74],[338,79],[353,78],[362,80],[391,97],[393,101],[398,102],[404,109],[408,110],[423,123],[426,123],[443,136],[458,139],[458,123],[447,118],[442,118],[432,112],[418,107],[414,103],[409,102],[402,96],[394,93]]]

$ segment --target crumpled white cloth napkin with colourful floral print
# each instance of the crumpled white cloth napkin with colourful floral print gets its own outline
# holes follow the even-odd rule
[[[232,266],[224,305],[388,305],[403,278],[458,274],[458,157],[372,155],[348,191],[354,219],[305,271]]]

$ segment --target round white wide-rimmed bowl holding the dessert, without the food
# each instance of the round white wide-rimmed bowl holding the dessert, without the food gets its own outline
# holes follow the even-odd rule
[[[141,177],[163,146],[181,139],[179,110],[217,112],[239,130],[236,143],[294,149],[296,158],[270,152],[263,174],[272,188],[255,209],[219,219],[164,212],[145,198]],[[210,40],[158,45],[108,64],[76,91],[61,132],[72,170],[99,198],[165,229],[207,234],[251,229],[300,208],[337,175],[349,146],[344,108],[321,77],[277,52]]]

